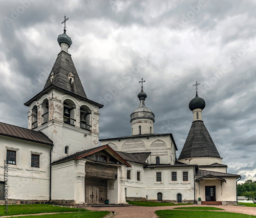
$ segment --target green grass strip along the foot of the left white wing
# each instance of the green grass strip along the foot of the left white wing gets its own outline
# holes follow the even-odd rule
[[[34,214],[34,213],[51,213],[51,212],[88,212],[87,209],[59,207],[48,204],[27,204],[27,205],[9,205],[8,214],[4,213],[4,205],[0,205],[0,216],[19,215],[19,214]],[[90,212],[91,213],[91,212]],[[83,213],[84,214],[84,213]],[[78,216],[79,217],[79,216]],[[98,217],[98,216],[95,216]],[[99,216],[101,217],[101,216]]]

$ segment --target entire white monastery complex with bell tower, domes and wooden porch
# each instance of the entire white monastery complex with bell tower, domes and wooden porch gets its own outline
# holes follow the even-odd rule
[[[28,128],[0,122],[0,203],[5,188],[14,204],[236,203],[241,177],[222,164],[202,120],[204,99],[196,94],[189,103],[194,120],[179,158],[171,133],[154,134],[143,86],[132,134],[101,139],[99,146],[103,105],[84,92],[66,29],[57,41],[61,51],[44,88],[25,103]]]

